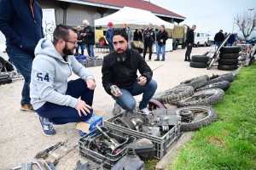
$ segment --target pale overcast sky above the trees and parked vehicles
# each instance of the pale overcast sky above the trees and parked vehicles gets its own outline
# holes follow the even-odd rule
[[[180,24],[188,26],[195,24],[197,31],[210,31],[211,35],[215,35],[219,30],[232,32],[237,12],[241,13],[248,8],[254,8],[253,11],[256,12],[256,0],[150,0],[150,2],[186,17],[186,20]],[[234,32],[242,36],[236,24]],[[256,31],[253,31],[252,36],[256,37]]]

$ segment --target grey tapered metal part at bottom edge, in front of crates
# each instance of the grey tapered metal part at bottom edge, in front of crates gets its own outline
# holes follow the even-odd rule
[[[145,163],[135,153],[132,148],[127,148],[126,156],[122,157],[111,170],[145,170]]]

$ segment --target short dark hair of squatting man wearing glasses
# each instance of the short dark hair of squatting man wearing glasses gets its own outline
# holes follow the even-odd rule
[[[56,26],[55,31],[53,33],[53,37],[54,37],[53,44],[56,45],[57,42],[60,39],[63,39],[64,41],[67,41],[70,37],[69,30],[77,33],[77,31],[71,26],[66,26],[66,25],[63,25],[63,24],[60,24],[60,25]]]

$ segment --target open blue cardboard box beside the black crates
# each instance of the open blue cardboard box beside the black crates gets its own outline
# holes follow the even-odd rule
[[[85,122],[78,122],[76,129],[83,131],[84,133],[90,133],[96,129],[96,125],[102,127],[104,111],[93,111],[92,116]]]

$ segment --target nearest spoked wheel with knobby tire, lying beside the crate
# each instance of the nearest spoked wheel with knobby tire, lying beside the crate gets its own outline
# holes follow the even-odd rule
[[[199,130],[201,127],[206,127],[207,125],[215,122],[217,120],[216,111],[212,107],[195,105],[183,107],[177,110],[182,116],[183,114],[193,114],[194,120],[191,122],[181,122],[180,131],[189,132]],[[182,116],[183,117],[183,116]]]

